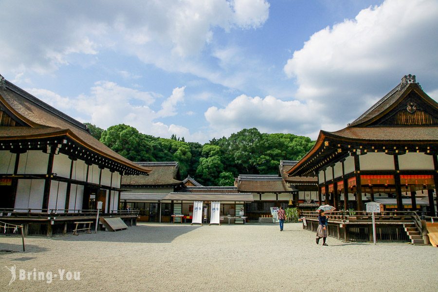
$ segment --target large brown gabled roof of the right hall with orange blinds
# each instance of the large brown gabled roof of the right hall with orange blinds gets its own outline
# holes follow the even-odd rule
[[[386,147],[386,152],[389,147],[403,146],[409,151],[408,146],[414,143],[416,151],[437,147],[438,103],[422,91],[415,75],[405,75],[398,86],[346,128],[335,132],[321,130],[312,149],[286,173],[314,174],[337,157],[355,151],[354,147],[369,146],[372,151]]]

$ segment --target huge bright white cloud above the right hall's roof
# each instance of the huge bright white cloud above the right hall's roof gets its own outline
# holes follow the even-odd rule
[[[328,122],[346,124],[405,74],[437,90],[437,35],[437,1],[386,0],[313,34],[284,72],[296,79],[297,98],[321,104]]]

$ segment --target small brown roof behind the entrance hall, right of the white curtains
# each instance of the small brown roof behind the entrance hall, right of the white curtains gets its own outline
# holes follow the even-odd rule
[[[277,175],[240,174],[235,182],[237,191],[253,193],[291,193],[296,191]]]

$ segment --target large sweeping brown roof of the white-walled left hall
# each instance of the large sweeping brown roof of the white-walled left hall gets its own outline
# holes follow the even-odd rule
[[[128,173],[147,174],[150,171],[134,164],[92,137],[86,125],[4,80],[1,75],[0,79],[0,109],[17,121],[16,126],[18,126],[0,127],[0,141],[26,140],[31,143],[43,138],[58,137],[61,141],[68,138],[69,141],[104,159],[123,165],[121,167]],[[93,163],[99,164],[97,159]]]

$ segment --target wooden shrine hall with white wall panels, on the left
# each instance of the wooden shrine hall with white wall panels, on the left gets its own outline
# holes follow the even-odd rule
[[[103,202],[103,213],[117,213],[122,176],[149,172],[93,138],[86,125],[0,75],[2,219],[14,218],[14,212],[65,217],[95,210],[95,201]]]

